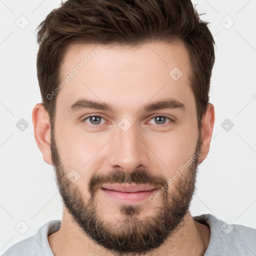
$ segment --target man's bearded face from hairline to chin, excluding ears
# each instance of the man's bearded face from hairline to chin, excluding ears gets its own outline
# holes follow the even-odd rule
[[[200,150],[189,72],[179,41],[72,45],[63,59],[61,81],[74,75],[57,94],[52,162],[64,210],[105,248],[158,247],[187,213]]]

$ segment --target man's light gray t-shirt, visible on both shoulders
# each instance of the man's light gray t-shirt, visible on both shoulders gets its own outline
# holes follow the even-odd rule
[[[193,217],[210,228],[210,240],[204,256],[255,256],[256,229],[217,219],[211,214]],[[12,245],[2,256],[53,256],[47,235],[60,228],[60,220],[50,220],[37,233]],[[75,256],[75,255],[74,255]]]

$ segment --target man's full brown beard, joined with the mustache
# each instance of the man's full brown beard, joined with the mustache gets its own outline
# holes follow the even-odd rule
[[[166,186],[166,178],[152,174],[146,169],[135,169],[131,173],[120,170],[94,173],[88,183],[90,197],[84,201],[79,188],[67,178],[67,170],[61,164],[56,148],[54,131],[51,132],[51,158],[61,199],[73,221],[98,245],[118,255],[140,255],[159,247],[182,226],[195,189],[198,157],[170,185],[171,189],[161,191],[161,195],[156,199],[161,200],[158,201],[161,203],[152,207],[154,215],[141,219],[138,216],[143,209],[142,204],[120,204],[122,221],[113,222],[107,220],[106,213],[102,214],[97,208],[101,205],[96,198],[100,185],[135,183],[154,185],[161,189],[164,184]],[[200,146],[199,136],[195,152],[200,151]]]

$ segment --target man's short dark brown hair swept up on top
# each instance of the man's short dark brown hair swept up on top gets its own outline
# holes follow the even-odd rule
[[[60,64],[71,43],[139,45],[181,39],[189,53],[198,128],[209,100],[214,39],[190,0],[67,0],[38,25],[37,77],[42,103],[55,119]],[[53,127],[52,127],[53,128]]]

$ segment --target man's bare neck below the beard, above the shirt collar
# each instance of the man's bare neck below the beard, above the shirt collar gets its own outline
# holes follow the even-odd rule
[[[181,225],[170,235],[158,248],[142,253],[149,255],[204,255],[209,243],[209,228],[193,220],[188,212]],[[96,244],[76,222],[72,220],[69,213],[63,212],[60,229],[48,236],[49,245],[55,256],[66,255],[105,255],[117,256],[119,253],[109,251]],[[141,255],[139,253],[126,254]]]

